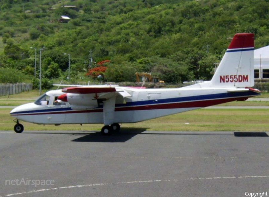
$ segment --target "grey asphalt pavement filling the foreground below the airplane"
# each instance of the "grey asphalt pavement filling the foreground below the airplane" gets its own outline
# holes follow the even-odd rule
[[[269,132],[145,130],[0,131],[0,196],[269,195]]]

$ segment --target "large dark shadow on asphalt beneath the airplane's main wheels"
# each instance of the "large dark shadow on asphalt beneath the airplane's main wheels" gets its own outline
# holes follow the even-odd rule
[[[101,132],[91,134],[74,134],[75,136],[83,135],[80,138],[73,139],[71,142],[126,142],[137,134],[146,131],[147,128],[121,128],[119,133],[104,136]]]

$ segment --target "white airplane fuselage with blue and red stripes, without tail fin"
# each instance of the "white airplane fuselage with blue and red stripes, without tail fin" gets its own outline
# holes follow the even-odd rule
[[[202,85],[174,89],[135,89],[117,86],[117,89],[125,90],[130,96],[124,99],[116,97],[114,122],[140,122],[233,100],[245,100],[259,94],[253,91],[227,92],[227,88],[203,88]],[[95,99],[98,95],[102,97],[101,94],[88,94],[85,97],[89,102],[96,102],[95,106],[92,104],[79,107],[73,107],[68,102],[55,105],[55,97],[63,94],[61,90],[48,91],[46,94],[48,99],[45,105],[28,103],[14,108],[10,114],[18,120],[37,124],[104,122],[103,105],[98,105]]]

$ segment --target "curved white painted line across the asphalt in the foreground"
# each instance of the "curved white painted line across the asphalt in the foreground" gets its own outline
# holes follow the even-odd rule
[[[28,192],[20,192],[20,193],[13,193],[7,194],[0,197],[6,196],[18,196],[22,194],[30,194],[30,193],[37,193],[37,192],[44,192],[44,191],[52,191],[52,190],[62,190],[62,189],[69,189],[69,188],[79,188],[79,187],[91,187],[91,186],[102,186],[102,185],[111,185],[111,184],[134,184],[134,183],[151,183],[151,182],[176,182],[176,181],[184,181],[184,180],[210,180],[210,179],[248,179],[248,178],[269,178],[269,176],[223,176],[223,177],[204,177],[204,178],[188,178],[188,179],[167,179],[167,180],[147,180],[147,181],[128,181],[128,182],[117,182],[117,183],[99,183],[99,184],[87,184],[87,185],[73,185],[73,186],[66,186],[66,187],[55,187],[50,189],[41,189],[41,190],[32,190]]]

